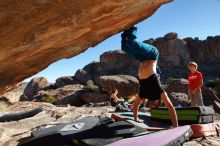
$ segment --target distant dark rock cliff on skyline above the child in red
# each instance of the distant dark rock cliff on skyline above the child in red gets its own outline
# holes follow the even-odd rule
[[[178,34],[170,32],[164,37],[150,38],[145,43],[156,46],[160,52],[159,66],[175,67],[186,65],[189,61],[200,64],[220,59],[220,36],[179,39]]]

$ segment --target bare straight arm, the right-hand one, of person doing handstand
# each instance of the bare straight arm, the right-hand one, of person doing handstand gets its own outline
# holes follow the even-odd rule
[[[167,96],[166,92],[161,93],[161,100],[163,101],[164,105],[167,107],[170,115],[170,119],[172,121],[173,127],[178,127],[178,120],[176,110],[170,101],[169,97]]]

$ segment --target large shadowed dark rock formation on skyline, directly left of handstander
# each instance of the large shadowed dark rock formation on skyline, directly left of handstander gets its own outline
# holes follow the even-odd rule
[[[138,67],[139,62],[129,57],[125,52],[121,50],[108,51],[100,56],[100,62],[92,62],[86,65],[83,68],[86,74],[81,74],[81,78],[88,78],[88,74],[93,80],[99,76],[118,74],[136,77]]]

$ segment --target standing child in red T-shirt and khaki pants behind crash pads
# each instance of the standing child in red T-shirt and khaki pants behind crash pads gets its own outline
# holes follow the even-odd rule
[[[197,71],[198,65],[195,62],[188,64],[190,74],[188,75],[188,96],[191,98],[191,106],[204,106],[201,87],[203,85],[202,73]]]

